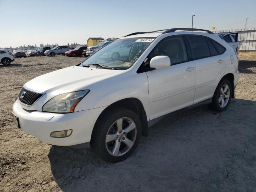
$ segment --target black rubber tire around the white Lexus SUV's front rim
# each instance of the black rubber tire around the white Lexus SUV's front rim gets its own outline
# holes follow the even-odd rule
[[[110,129],[110,127],[112,127],[113,123],[119,120],[120,118],[130,118],[135,123],[136,128],[134,129],[136,129],[136,138],[134,140],[133,146],[125,154],[123,154],[122,156],[113,156],[107,150],[106,136],[108,134],[108,130]],[[136,113],[127,108],[112,108],[110,110],[105,111],[104,114],[102,114],[97,120],[94,126],[94,130],[92,132],[91,146],[94,152],[104,161],[109,163],[117,163],[122,160],[125,160],[134,152],[134,150],[138,146],[138,143],[140,142],[141,132],[142,126],[140,118]]]

